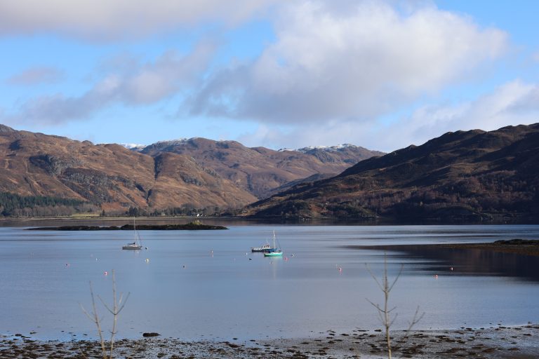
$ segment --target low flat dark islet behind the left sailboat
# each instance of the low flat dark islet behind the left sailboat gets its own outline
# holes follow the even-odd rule
[[[36,227],[29,228],[31,231],[133,231],[133,224],[123,226],[59,226],[59,227]],[[138,231],[197,231],[212,229],[228,229],[225,226],[212,226],[202,224],[200,221],[187,224],[140,224],[136,226]]]

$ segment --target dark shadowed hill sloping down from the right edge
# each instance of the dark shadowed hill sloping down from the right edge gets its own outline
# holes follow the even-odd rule
[[[446,133],[298,184],[244,215],[539,222],[539,123]]]

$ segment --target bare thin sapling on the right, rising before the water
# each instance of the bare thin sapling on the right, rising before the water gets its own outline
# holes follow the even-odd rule
[[[380,306],[378,303],[373,303],[369,299],[367,299],[367,302],[369,302],[372,306],[375,307],[376,312],[378,313],[378,318],[380,319],[380,322],[382,323],[384,329],[385,329],[385,341],[387,345],[387,358],[392,358],[392,346],[391,346],[391,334],[390,334],[390,328],[392,327],[393,323],[397,319],[398,313],[395,313],[393,315],[393,311],[397,309],[396,306],[392,307],[390,309],[390,292],[393,289],[394,285],[397,283],[397,280],[399,280],[399,277],[401,276],[402,270],[404,269],[404,264],[401,264],[401,268],[399,269],[399,273],[397,273],[397,276],[390,282],[390,279],[387,276],[387,255],[384,254],[384,273],[382,276],[382,280],[379,280],[374,273],[369,268],[368,264],[365,264],[368,273],[371,274],[371,277],[375,280],[376,284],[378,284],[378,287],[380,290],[382,290],[382,293],[384,294],[384,304],[383,306]],[[412,329],[414,325],[416,325],[421,318],[423,317],[425,313],[421,313],[419,315],[419,306],[417,309],[415,309],[415,314],[411,320],[410,323],[408,323],[408,329],[406,330],[406,336]],[[405,337],[406,338],[406,337]],[[403,339],[404,340],[404,339]]]

